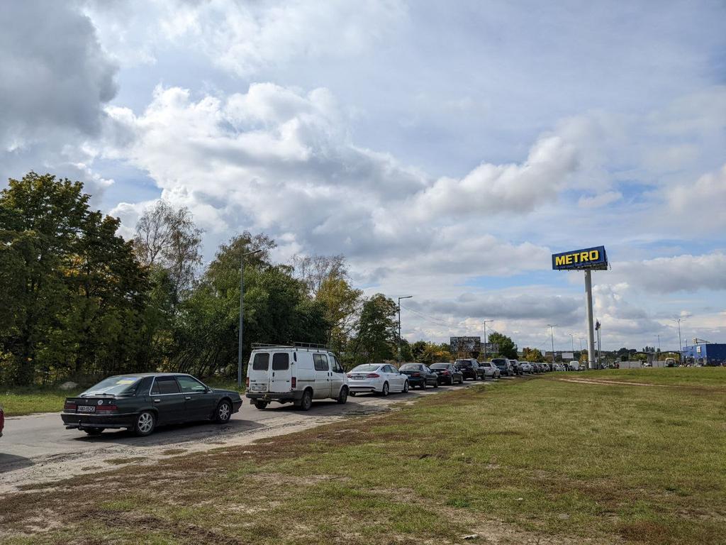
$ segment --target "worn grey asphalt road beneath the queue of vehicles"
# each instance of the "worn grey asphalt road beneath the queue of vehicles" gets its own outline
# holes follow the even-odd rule
[[[487,381],[489,382],[489,381]],[[310,411],[272,403],[259,411],[245,399],[228,424],[182,424],[159,427],[148,437],[126,430],[90,437],[65,429],[58,413],[10,417],[0,437],[0,495],[28,485],[98,472],[124,463],[150,464],[167,456],[207,451],[224,445],[245,445],[263,437],[309,429],[340,419],[388,411],[395,403],[413,402],[421,395],[435,395],[481,382],[442,386],[388,397],[357,395],[348,403],[316,401]]]

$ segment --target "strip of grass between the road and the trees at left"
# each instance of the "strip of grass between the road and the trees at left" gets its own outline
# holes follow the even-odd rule
[[[225,379],[211,379],[205,384],[213,388],[237,390],[237,382]],[[92,386],[89,384],[88,386]],[[23,416],[32,413],[60,413],[66,397],[78,395],[84,387],[62,390],[58,387],[0,389],[0,405],[5,416]],[[244,392],[244,385],[239,389]]]

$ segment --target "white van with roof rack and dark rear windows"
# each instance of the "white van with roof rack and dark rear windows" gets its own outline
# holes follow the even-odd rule
[[[317,344],[253,344],[247,368],[250,403],[295,403],[307,411],[314,399],[348,400],[348,377],[335,354]]]

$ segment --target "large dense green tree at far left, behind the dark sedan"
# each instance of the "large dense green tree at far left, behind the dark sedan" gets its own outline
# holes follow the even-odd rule
[[[80,182],[30,172],[0,192],[2,379],[146,366],[146,272]],[[5,322],[5,320],[3,320]]]

